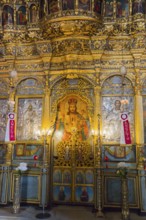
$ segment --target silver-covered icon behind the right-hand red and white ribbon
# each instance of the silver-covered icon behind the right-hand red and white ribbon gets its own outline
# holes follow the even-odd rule
[[[108,97],[103,98],[103,141],[120,143],[122,134],[121,114],[125,110],[128,114],[131,136],[133,136],[134,125],[133,113],[131,112],[133,99],[129,98],[128,104],[123,104],[120,99],[121,97],[112,97],[110,100]]]

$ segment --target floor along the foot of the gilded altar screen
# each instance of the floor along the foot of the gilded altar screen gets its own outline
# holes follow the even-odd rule
[[[48,216],[50,214],[50,216]],[[91,207],[83,206],[55,206],[51,211],[36,206],[22,206],[19,214],[13,214],[12,207],[0,207],[1,220],[121,220],[120,211],[104,211],[104,217],[97,217]],[[130,220],[145,220],[146,216],[140,216],[138,213],[130,211]]]

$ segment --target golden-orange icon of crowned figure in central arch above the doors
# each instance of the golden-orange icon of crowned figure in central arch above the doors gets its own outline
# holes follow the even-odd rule
[[[78,140],[87,140],[90,133],[90,121],[86,109],[87,105],[77,97],[62,101],[57,113],[55,138],[68,141],[73,134],[77,134]]]

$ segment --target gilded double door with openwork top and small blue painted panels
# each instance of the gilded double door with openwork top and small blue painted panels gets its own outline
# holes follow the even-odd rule
[[[75,142],[74,142],[75,141]],[[61,142],[53,167],[53,201],[93,203],[94,169],[91,146],[87,142]]]

